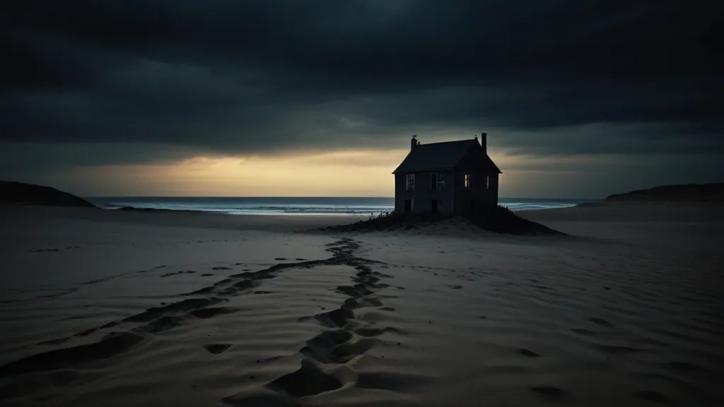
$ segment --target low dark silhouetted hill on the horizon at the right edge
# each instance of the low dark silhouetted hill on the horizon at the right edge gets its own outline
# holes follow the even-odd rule
[[[714,184],[662,185],[608,196],[604,201],[724,202],[724,182]]]

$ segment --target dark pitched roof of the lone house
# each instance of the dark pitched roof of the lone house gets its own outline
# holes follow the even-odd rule
[[[455,168],[473,147],[480,148],[477,139],[419,144],[408,153],[392,174]],[[487,154],[485,154],[483,162],[492,171],[502,173]]]

